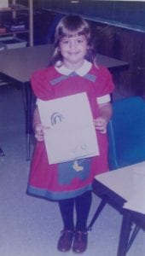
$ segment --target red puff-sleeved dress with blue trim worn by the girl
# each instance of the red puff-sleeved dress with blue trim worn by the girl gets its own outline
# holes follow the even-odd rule
[[[31,82],[35,96],[44,101],[86,92],[94,119],[99,115],[98,102],[107,101],[114,88],[107,68],[94,65],[84,75],[62,74],[58,68],[48,67],[33,73]],[[44,142],[36,143],[27,193],[55,201],[72,198],[92,189],[95,175],[108,171],[107,135],[98,131],[96,134],[100,155],[78,160],[78,166],[82,167],[79,172],[73,168],[74,161],[49,165]]]

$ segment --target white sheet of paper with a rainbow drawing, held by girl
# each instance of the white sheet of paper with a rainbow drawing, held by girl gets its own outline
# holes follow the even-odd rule
[[[49,164],[99,154],[96,130],[85,92],[55,100],[38,100]]]

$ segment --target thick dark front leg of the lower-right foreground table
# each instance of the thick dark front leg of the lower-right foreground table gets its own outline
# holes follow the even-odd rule
[[[125,256],[127,253],[128,242],[131,233],[131,212],[125,210],[123,212],[123,220],[121,224],[121,231],[119,236],[119,247],[117,256]]]

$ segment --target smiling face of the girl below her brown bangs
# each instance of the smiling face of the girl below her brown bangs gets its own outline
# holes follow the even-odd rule
[[[84,35],[61,38],[59,47],[65,67],[75,70],[83,65],[84,56],[88,49],[87,40]]]

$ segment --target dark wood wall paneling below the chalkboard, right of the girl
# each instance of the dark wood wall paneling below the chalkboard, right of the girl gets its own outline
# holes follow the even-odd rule
[[[126,95],[145,95],[145,33],[91,22],[96,50],[130,63],[115,76],[116,86]]]

